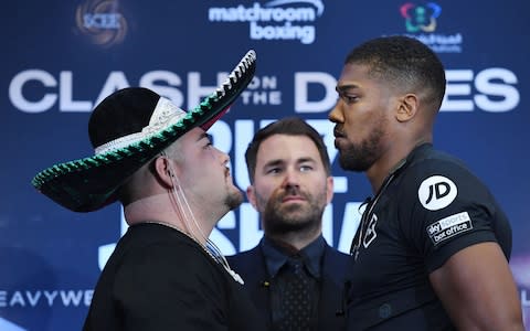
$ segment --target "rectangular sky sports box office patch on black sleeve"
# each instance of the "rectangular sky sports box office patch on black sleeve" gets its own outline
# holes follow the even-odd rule
[[[467,212],[451,215],[427,226],[431,241],[437,244],[473,228],[471,218]]]

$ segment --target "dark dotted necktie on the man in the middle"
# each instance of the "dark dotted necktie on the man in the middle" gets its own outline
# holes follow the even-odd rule
[[[287,282],[283,295],[284,319],[279,325],[282,331],[307,331],[311,318],[311,288],[309,278],[299,259],[289,259]]]

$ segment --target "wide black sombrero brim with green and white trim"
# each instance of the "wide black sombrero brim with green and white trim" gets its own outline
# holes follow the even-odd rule
[[[33,186],[74,212],[115,202],[116,191],[135,171],[191,129],[213,125],[246,88],[255,67],[256,54],[248,51],[222,86],[174,125],[125,148],[45,169],[33,178]]]

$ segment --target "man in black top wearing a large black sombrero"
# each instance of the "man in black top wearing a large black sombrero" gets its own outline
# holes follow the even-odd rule
[[[250,51],[191,111],[131,87],[93,111],[89,158],[53,166],[32,183],[56,203],[91,212],[119,201],[129,228],[95,289],[88,330],[259,330],[243,280],[208,237],[243,201],[229,156],[205,131],[252,81]]]

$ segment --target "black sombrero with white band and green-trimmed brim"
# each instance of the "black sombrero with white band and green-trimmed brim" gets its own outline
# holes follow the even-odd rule
[[[119,186],[179,137],[208,130],[252,81],[256,54],[248,51],[226,81],[184,111],[142,87],[115,92],[96,106],[88,122],[93,157],[55,164],[32,180],[41,193],[74,212],[91,212],[116,201]]]

